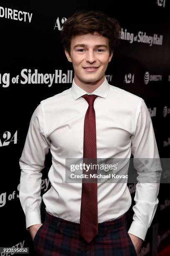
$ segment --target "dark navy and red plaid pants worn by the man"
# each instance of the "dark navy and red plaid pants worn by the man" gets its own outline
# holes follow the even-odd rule
[[[128,234],[127,217],[98,223],[98,235],[87,243],[79,235],[80,224],[46,212],[33,246],[38,256],[136,256]]]

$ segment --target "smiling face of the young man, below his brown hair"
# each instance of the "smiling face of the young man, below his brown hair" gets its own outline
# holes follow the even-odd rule
[[[88,84],[105,77],[113,53],[109,55],[108,38],[94,33],[72,37],[70,55],[67,51],[65,54],[72,62],[75,81]]]

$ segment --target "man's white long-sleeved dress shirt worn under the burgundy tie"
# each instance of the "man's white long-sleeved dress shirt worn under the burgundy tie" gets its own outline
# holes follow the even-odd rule
[[[41,200],[48,213],[80,223],[81,183],[65,183],[65,159],[83,157],[87,94],[69,89],[42,100],[35,109],[20,158],[20,202],[26,228],[41,223]],[[105,81],[91,94],[96,117],[97,158],[159,158],[152,120],[141,97]],[[52,154],[50,189],[41,197],[45,155]],[[120,218],[132,199],[126,183],[98,183],[98,223]],[[137,183],[129,233],[145,240],[158,206],[159,183]]]

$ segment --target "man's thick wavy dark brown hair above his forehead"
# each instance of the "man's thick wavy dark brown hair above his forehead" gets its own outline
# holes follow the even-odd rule
[[[61,30],[61,42],[70,54],[71,38],[73,36],[99,33],[109,40],[109,52],[120,43],[121,26],[114,18],[97,10],[77,10],[64,23]]]

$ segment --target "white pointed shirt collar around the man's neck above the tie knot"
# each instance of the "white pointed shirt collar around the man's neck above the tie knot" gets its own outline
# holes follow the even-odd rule
[[[95,94],[97,96],[106,98],[110,90],[110,85],[107,82],[107,79],[105,77],[105,81],[94,91],[90,94]],[[82,88],[80,88],[77,84],[75,84],[75,81],[73,79],[72,81],[72,87],[71,87],[71,93],[75,100],[80,98],[82,95],[87,94],[88,92],[84,91]]]

